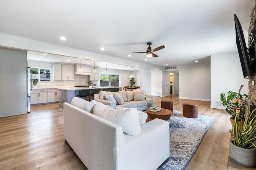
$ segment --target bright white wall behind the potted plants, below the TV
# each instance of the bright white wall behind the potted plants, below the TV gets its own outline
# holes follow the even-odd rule
[[[211,56],[211,107],[224,109],[220,94],[229,90],[238,92],[244,84],[241,94],[248,94],[248,79],[244,80],[238,52]]]

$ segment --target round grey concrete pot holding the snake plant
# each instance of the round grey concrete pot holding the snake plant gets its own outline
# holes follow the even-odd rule
[[[234,145],[234,140],[230,140],[229,146],[229,156],[230,158],[239,165],[253,168],[256,166],[256,148],[244,149]]]

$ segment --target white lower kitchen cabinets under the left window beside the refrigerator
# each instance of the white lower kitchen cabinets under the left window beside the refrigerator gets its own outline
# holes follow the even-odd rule
[[[33,98],[30,99],[30,104],[41,104],[48,102],[48,90],[47,89],[37,89],[30,93]]]

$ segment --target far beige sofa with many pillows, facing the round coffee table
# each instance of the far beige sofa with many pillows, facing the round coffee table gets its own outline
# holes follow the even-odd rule
[[[110,94],[112,94],[113,97],[109,96]],[[116,96],[115,94],[120,94],[123,100],[118,100],[118,96]],[[134,107],[140,111],[146,110],[149,107],[154,106],[154,96],[151,94],[144,94],[144,92],[139,89],[133,91],[119,91],[114,94],[112,92],[100,91],[99,94],[94,94],[94,100],[108,105],[112,108]]]

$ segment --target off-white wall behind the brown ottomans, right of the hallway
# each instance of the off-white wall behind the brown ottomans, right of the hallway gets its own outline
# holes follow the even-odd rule
[[[179,98],[210,101],[210,63],[180,65],[178,69]]]

